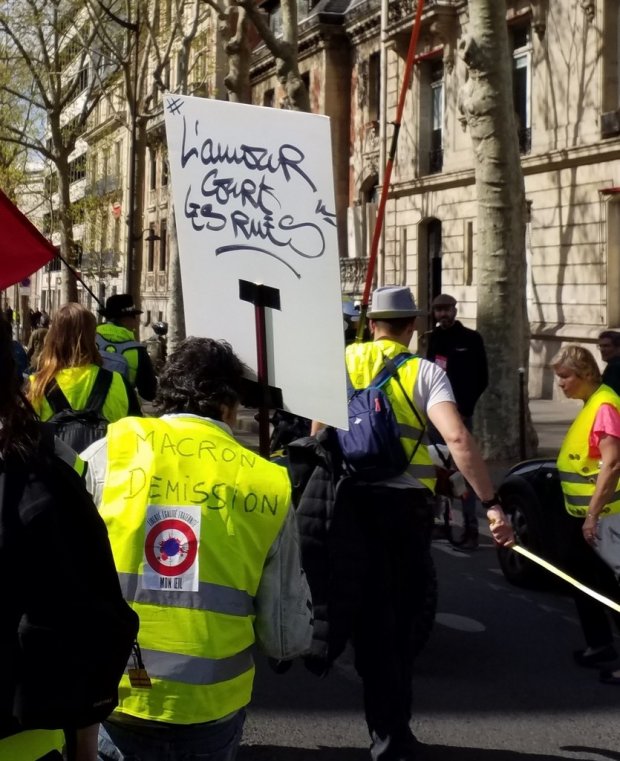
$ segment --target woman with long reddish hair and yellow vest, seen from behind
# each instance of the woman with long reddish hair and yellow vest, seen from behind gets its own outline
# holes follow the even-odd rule
[[[95,316],[81,304],[65,304],[54,316],[28,390],[28,398],[41,420],[49,420],[62,409],[63,397],[71,409],[85,409],[102,373],[107,380],[103,417],[113,423],[127,415],[141,414],[123,376],[101,367],[96,328]]]

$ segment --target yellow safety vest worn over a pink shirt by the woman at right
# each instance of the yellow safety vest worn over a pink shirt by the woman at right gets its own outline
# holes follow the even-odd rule
[[[558,455],[557,466],[564,493],[564,506],[571,515],[578,518],[582,518],[588,510],[601,470],[599,460],[588,454],[588,440],[602,404],[611,404],[620,411],[620,397],[615,391],[609,386],[599,386],[568,429]],[[620,512],[619,487],[620,482],[611,501],[602,510],[604,515]]]

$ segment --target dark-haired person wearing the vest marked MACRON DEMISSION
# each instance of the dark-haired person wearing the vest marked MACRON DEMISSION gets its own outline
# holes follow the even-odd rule
[[[186,339],[160,377],[163,416],[114,423],[82,453],[140,616],[140,659],[100,729],[102,761],[119,752],[229,761],[252,695],[254,643],[279,660],[309,647],[288,474],[232,435],[243,371],[225,342]]]

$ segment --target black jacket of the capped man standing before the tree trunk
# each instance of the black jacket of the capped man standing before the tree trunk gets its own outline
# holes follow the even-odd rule
[[[489,384],[487,355],[482,336],[458,320],[450,328],[433,328],[426,358],[444,368],[456,406],[463,417],[471,417],[482,392]]]

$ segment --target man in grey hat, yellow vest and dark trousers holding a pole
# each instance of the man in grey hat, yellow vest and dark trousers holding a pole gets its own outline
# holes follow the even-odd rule
[[[346,349],[347,370],[355,388],[366,387],[387,357],[407,352],[418,314],[409,288],[387,286],[374,292],[368,312],[373,340]],[[434,489],[435,470],[427,445],[429,420],[480,497],[495,541],[507,546],[514,541],[445,372],[416,355],[400,362],[397,377],[392,376],[385,388],[409,466],[382,482],[343,479],[329,536],[330,603],[334,605],[327,658],[331,662],[337,657],[347,638],[353,643],[373,761],[413,761],[418,755],[409,721],[415,625],[424,610],[432,567],[433,517],[428,497]]]

